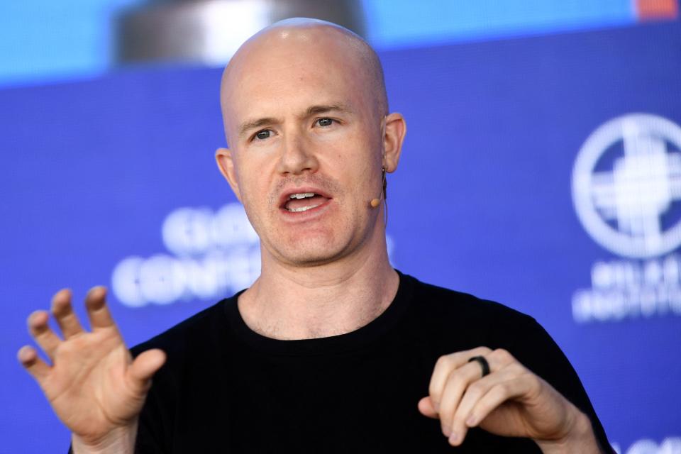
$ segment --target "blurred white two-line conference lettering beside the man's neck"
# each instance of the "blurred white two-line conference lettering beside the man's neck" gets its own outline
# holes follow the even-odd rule
[[[161,235],[168,253],[133,255],[114,268],[111,289],[122,304],[215,301],[248,287],[260,275],[260,240],[240,204],[218,211],[176,209],[163,221]],[[386,240],[392,257],[392,238]]]

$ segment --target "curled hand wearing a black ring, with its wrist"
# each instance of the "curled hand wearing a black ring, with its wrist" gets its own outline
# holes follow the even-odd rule
[[[487,360],[489,375],[469,361],[475,356]],[[587,416],[506,350],[480,347],[442,356],[428,393],[419,411],[440,419],[451,445],[480,426],[500,436],[532,438],[545,453],[600,452]]]

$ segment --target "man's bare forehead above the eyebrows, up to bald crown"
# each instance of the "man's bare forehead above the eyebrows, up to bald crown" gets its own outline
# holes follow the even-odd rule
[[[225,126],[319,104],[361,110],[371,97],[369,86],[362,55],[341,33],[273,33],[247,43],[228,66],[221,97]]]

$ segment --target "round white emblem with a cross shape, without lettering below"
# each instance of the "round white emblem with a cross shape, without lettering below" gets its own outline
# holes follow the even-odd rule
[[[650,258],[681,245],[681,126],[629,114],[597,128],[572,170],[572,200],[592,238],[613,253]]]

